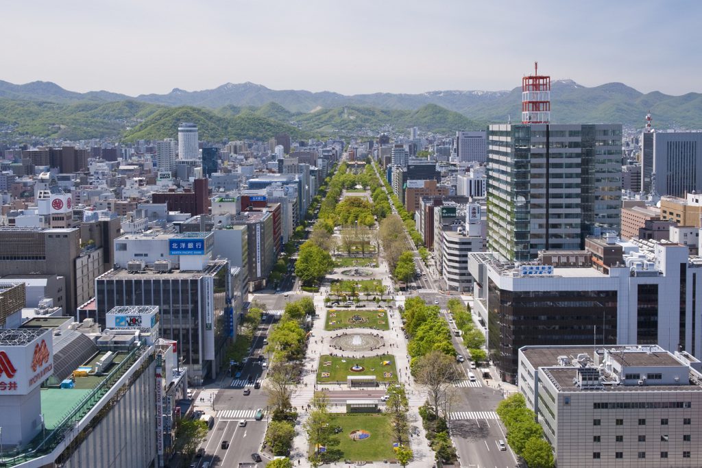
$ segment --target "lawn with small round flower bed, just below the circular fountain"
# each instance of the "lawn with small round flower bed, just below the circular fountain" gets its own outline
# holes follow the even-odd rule
[[[390,364],[383,366],[383,361],[390,361]],[[331,362],[331,365],[324,366],[325,362]],[[356,364],[363,366],[364,370],[361,372],[352,372],[351,366],[355,366]],[[329,376],[325,376],[326,373],[329,373]],[[388,373],[387,377],[385,373]],[[397,380],[395,356],[392,356],[392,354],[383,354],[381,356],[364,358],[345,358],[324,354],[319,358],[317,382],[346,382],[346,377],[348,375],[375,375],[376,382],[395,382]]]

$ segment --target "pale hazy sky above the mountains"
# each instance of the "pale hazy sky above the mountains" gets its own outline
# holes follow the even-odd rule
[[[700,1],[3,1],[0,79],[168,93],[252,81],[338,93],[552,79],[702,92]]]

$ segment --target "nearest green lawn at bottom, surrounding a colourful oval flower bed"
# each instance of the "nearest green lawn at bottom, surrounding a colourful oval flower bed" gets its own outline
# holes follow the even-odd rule
[[[390,438],[390,418],[387,415],[331,415],[331,425],[343,430],[336,435],[338,445],[329,448],[338,450],[340,460],[352,462],[394,461]],[[368,439],[353,441],[349,434],[363,429],[371,434]]]

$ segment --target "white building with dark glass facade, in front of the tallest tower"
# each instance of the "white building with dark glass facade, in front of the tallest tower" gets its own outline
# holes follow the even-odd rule
[[[593,243],[607,250],[593,247]],[[661,345],[702,355],[702,260],[671,242],[588,239],[592,267],[501,262],[470,253],[474,309],[501,378],[529,345]],[[619,253],[621,252],[621,255]],[[576,255],[572,255],[576,262]]]

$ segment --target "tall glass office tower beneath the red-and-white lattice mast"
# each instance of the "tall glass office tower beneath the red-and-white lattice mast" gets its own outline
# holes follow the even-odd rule
[[[621,125],[491,125],[488,144],[488,250],[529,260],[619,231]]]

